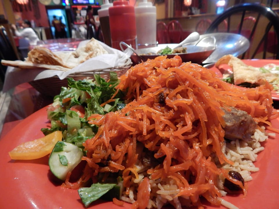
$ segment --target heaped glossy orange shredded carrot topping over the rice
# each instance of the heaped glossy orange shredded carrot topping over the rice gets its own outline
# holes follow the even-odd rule
[[[137,144],[141,143],[161,163],[147,170],[148,178],[138,187],[135,208],[148,204],[149,179],[171,179],[178,186],[177,197],[190,197],[199,208],[200,196],[220,205],[221,194],[216,187],[220,175],[244,190],[240,181],[211,160],[214,153],[221,164],[233,164],[221,151],[225,122],[220,107],[236,107],[255,121],[271,125],[268,120],[278,112],[272,107],[270,84],[239,89],[198,64],[182,63],[179,56],[142,62],[120,79],[118,88],[127,92],[125,99],[129,103],[121,111],[89,118],[100,128],[83,144],[88,151],[85,159],[93,170],[89,174],[87,169],[84,176],[121,172],[129,191],[133,179],[139,176],[135,164],[142,158],[137,152]],[[102,160],[108,161],[105,167],[99,165]]]

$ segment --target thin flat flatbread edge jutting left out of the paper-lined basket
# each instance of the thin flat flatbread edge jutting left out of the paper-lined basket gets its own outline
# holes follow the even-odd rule
[[[59,70],[59,71],[68,71],[69,68],[65,68],[59,65],[48,65],[48,64],[35,64],[32,62],[26,61],[9,61],[1,60],[1,64],[5,66],[12,66],[21,69],[50,69],[50,70]]]

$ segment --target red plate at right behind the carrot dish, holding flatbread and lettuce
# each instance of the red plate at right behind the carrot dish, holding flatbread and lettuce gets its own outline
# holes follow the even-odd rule
[[[251,66],[254,66],[254,67],[263,67],[263,66],[265,66],[267,64],[276,64],[276,65],[279,66],[279,60],[242,60],[242,61],[245,64],[251,65]],[[210,69],[215,71],[216,74],[220,78],[223,78],[222,72],[217,67],[214,66],[214,67],[212,67]],[[231,69],[231,67],[228,66],[228,65],[222,65],[222,69],[223,70],[228,70],[228,69]],[[273,100],[279,100],[279,93],[278,92],[272,91],[271,94],[272,94],[272,99]]]

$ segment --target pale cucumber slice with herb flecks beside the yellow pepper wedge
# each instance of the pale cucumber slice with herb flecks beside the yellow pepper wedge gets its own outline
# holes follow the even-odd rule
[[[68,172],[81,162],[83,152],[76,145],[59,141],[49,157],[49,169],[58,179],[65,180]]]

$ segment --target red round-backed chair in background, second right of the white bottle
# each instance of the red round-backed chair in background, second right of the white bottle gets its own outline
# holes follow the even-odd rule
[[[182,41],[183,29],[179,21],[172,20],[168,24],[169,43],[180,43]]]

